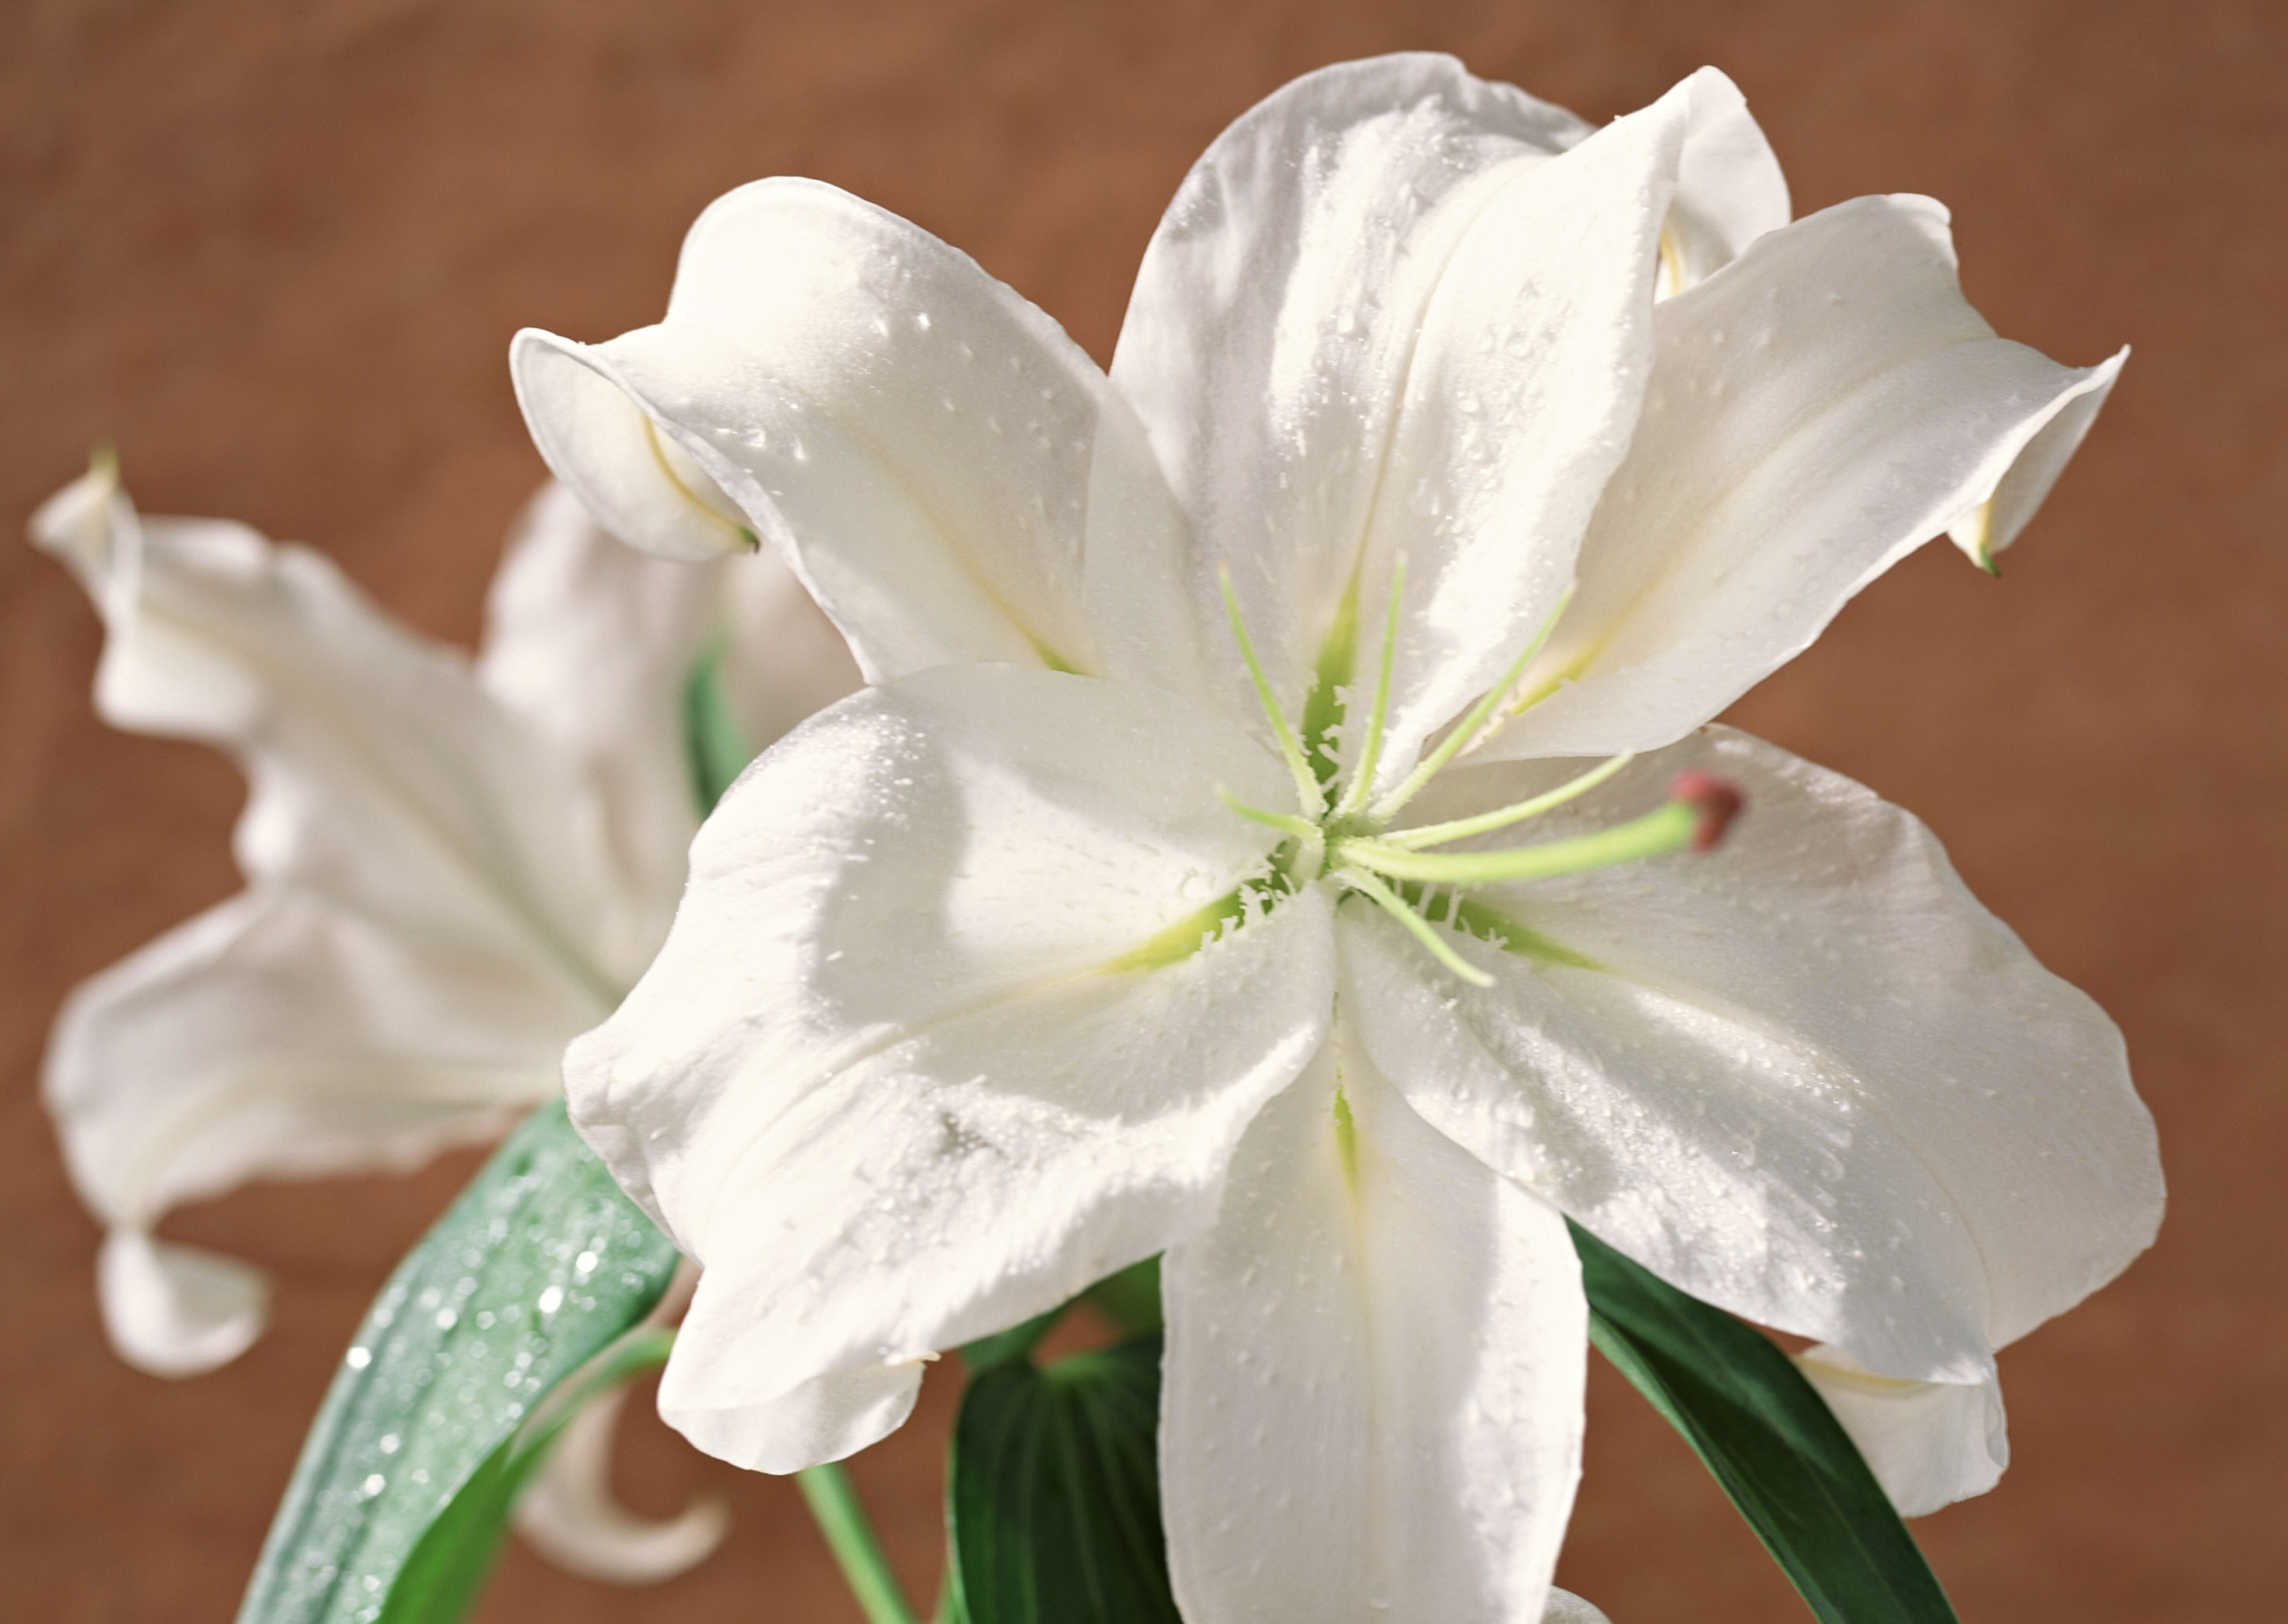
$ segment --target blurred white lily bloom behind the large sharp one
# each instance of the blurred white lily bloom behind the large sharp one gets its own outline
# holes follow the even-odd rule
[[[753,627],[721,670],[757,741],[856,672],[785,570],[659,565],[554,485],[476,666],[313,551],[140,517],[110,467],[32,535],[103,613],[105,721],[231,750],[252,787],[247,890],[85,981],[46,1068],[112,1345],[183,1377],[261,1334],[265,1281],[156,1240],[169,1208],[492,1137],[634,984],[698,826],[682,686],[709,638]]]

